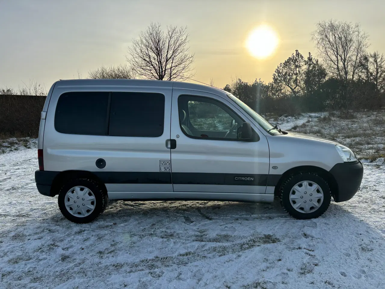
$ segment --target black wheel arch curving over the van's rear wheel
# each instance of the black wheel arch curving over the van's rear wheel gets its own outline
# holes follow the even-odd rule
[[[96,176],[94,173],[90,171],[82,171],[82,170],[68,170],[68,171],[61,171],[58,173],[54,180],[52,181],[51,189],[50,189],[50,195],[54,197],[55,195],[59,194],[59,190],[62,187],[62,185],[65,183],[65,181],[69,181],[74,178],[90,178],[94,181],[97,181],[102,190],[104,190],[107,193],[107,188],[105,187],[105,184],[98,176]]]

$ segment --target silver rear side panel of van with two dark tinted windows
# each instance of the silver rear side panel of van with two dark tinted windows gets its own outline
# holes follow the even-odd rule
[[[90,171],[105,183],[110,198],[172,192],[166,148],[171,87],[119,90],[55,87],[45,124],[45,170]],[[104,167],[97,166],[98,159]]]

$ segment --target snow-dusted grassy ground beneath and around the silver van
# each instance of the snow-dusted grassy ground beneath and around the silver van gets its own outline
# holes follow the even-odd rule
[[[383,158],[364,161],[352,200],[313,220],[279,202],[149,201],[79,225],[37,192],[37,168],[35,148],[0,154],[0,288],[385,286]]]

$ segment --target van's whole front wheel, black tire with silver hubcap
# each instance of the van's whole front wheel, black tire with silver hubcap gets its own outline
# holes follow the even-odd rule
[[[294,218],[318,218],[330,205],[328,183],[313,172],[290,175],[281,185],[280,202],[283,209]]]

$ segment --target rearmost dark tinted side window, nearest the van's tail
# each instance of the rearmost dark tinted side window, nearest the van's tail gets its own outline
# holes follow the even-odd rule
[[[66,92],[59,97],[55,129],[60,133],[107,134],[109,92]]]

